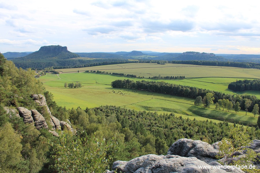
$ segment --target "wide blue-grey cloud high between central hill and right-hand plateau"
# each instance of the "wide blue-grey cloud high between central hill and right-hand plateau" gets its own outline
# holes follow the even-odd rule
[[[143,24],[145,32],[166,32],[166,31],[189,31],[194,24],[188,20],[172,20],[169,23],[160,21],[148,21]]]

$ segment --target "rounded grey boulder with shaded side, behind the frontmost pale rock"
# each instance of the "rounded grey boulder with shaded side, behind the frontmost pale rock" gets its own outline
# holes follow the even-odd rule
[[[167,154],[182,157],[196,157],[206,163],[210,163],[218,160],[215,157],[219,152],[218,149],[218,143],[210,145],[200,140],[182,138],[172,144]]]

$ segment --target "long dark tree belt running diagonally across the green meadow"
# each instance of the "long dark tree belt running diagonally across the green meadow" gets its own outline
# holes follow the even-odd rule
[[[146,90],[152,91],[156,93],[164,93],[170,95],[176,95],[181,97],[188,97],[195,99],[196,97],[201,97],[205,99],[207,98],[207,93],[212,93],[212,97],[214,97],[213,102],[217,103],[219,99],[228,99],[235,105],[236,102],[239,102],[242,110],[245,110],[245,101],[246,99],[250,99],[251,104],[248,106],[248,111],[252,111],[255,104],[260,105],[260,99],[253,95],[231,95],[225,94],[218,91],[210,91],[207,89],[197,88],[193,86],[183,86],[177,84],[169,84],[164,81],[156,82],[156,81],[133,81],[129,79],[124,80],[115,80],[111,83],[111,86],[114,88],[129,88],[129,89],[137,89],[137,90]],[[209,105],[208,105],[209,107]]]

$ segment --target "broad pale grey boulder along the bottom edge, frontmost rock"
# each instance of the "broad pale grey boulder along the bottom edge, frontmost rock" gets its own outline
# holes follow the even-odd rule
[[[199,166],[208,166],[200,168]],[[213,168],[211,165],[196,157],[181,157],[177,155],[144,155],[130,161],[115,161],[113,170],[125,173],[171,173],[171,172],[197,172],[197,173],[225,173],[226,170]],[[229,171],[229,170],[228,170]],[[113,171],[110,171],[112,173]],[[242,173],[240,169],[233,173]]]

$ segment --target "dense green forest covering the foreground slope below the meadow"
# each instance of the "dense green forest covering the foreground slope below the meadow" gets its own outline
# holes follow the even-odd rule
[[[127,110],[115,106],[71,108],[58,106],[53,95],[34,78],[31,69],[18,69],[0,54],[0,172],[105,172],[116,160],[145,154],[166,154],[179,138],[213,143],[230,138],[228,123],[184,119],[172,114]],[[43,94],[51,114],[70,121],[77,133],[37,130],[23,118],[9,116],[4,107],[44,110],[30,97]],[[86,105],[87,106],[87,105]],[[44,114],[46,120],[49,117]],[[258,127],[248,128],[251,139]]]

